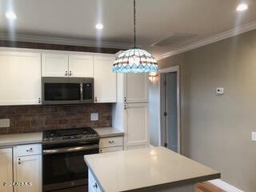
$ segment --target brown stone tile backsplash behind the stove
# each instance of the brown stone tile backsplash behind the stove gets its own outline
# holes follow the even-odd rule
[[[0,134],[86,126],[112,126],[111,110],[112,104],[110,103],[63,106],[0,106],[0,118],[10,118],[10,127],[0,128]],[[98,113],[98,121],[90,121],[91,113]]]

